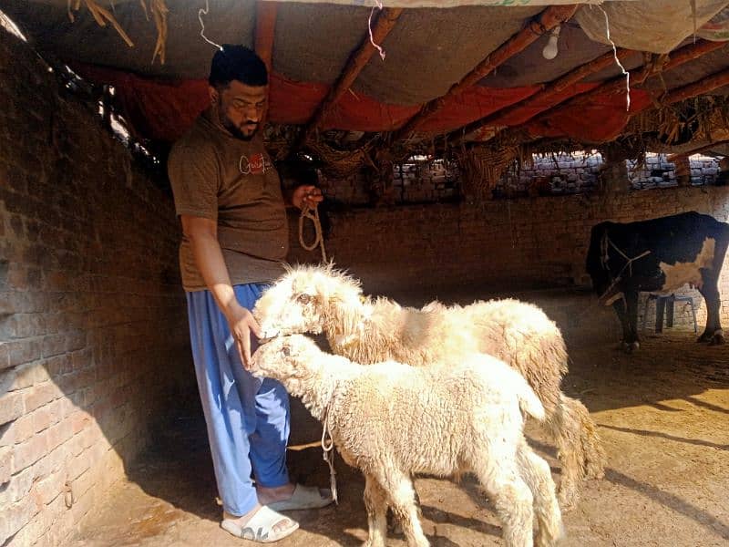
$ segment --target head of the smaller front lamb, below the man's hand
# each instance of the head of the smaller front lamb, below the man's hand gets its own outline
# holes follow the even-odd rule
[[[297,380],[308,376],[307,364],[321,359],[322,350],[304,335],[278,336],[262,344],[252,356],[251,372],[256,377],[279,380],[292,395]]]

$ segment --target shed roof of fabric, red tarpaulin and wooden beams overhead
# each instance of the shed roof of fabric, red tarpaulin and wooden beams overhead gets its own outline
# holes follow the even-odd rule
[[[214,46],[200,36],[205,5],[4,0],[2,9],[41,53],[113,85],[139,138],[171,141],[208,100]],[[374,157],[385,148],[396,156],[423,143],[442,150],[484,141],[495,150],[529,142],[549,149],[567,139],[589,146],[634,136],[636,128],[656,137],[636,115],[645,121],[644,112],[673,108],[673,129],[696,129],[696,109],[724,108],[729,90],[729,46],[722,42],[729,39],[729,0],[374,6],[209,0],[201,15],[205,36],[256,47],[272,68],[267,135],[282,155],[309,147],[331,158],[343,150]],[[554,28],[559,53],[548,60],[543,49]],[[631,71],[630,109],[613,44]],[[703,114],[703,121],[711,118]],[[662,119],[665,125],[672,118]],[[723,119],[714,116],[715,135],[694,131],[688,140],[729,139]]]

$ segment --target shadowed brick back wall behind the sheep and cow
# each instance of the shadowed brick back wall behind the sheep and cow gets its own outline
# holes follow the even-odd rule
[[[590,287],[584,271],[591,227],[605,220],[631,222],[684,211],[726,222],[729,188],[717,186],[630,191],[606,198],[572,194],[466,203],[401,205],[330,213],[327,253],[364,281],[369,293],[413,292],[436,297],[459,287],[513,294],[554,287]],[[311,232],[306,241],[311,242]],[[293,224],[295,234],[295,225]],[[292,262],[317,261],[293,242]],[[720,291],[729,324],[729,266]],[[699,325],[705,320],[703,299]],[[643,307],[641,305],[641,311]],[[654,307],[649,309],[649,325]],[[677,324],[689,310],[676,306]]]

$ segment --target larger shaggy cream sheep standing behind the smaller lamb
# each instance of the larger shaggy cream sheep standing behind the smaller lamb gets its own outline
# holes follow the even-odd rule
[[[324,333],[335,354],[372,364],[457,364],[472,353],[495,356],[529,382],[545,412],[562,465],[559,499],[570,509],[586,479],[601,478],[605,453],[580,401],[560,389],[567,349],[560,329],[539,307],[517,300],[467,306],[438,302],[422,309],[364,297],[357,280],[332,264],[290,267],[253,310],[263,335]]]

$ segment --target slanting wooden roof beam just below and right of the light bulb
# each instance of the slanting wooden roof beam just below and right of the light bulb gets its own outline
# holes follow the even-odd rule
[[[619,49],[618,50],[618,58],[622,60],[626,59],[627,57],[631,56],[634,51],[630,49]],[[555,96],[559,95],[562,91],[564,91],[566,88],[569,88],[570,86],[573,86],[580,81],[582,81],[585,77],[590,76],[590,74],[595,74],[596,72],[600,72],[603,68],[610,67],[615,62],[615,57],[613,57],[612,51],[601,55],[600,57],[597,57],[595,59],[592,59],[589,63],[586,63],[585,65],[582,65],[581,67],[577,67],[567,74],[565,74],[562,77],[557,78],[556,80],[553,80],[549,82],[549,84],[544,84],[541,86],[541,90],[539,90],[534,95],[529,96],[528,98],[525,98],[523,100],[520,100],[517,103],[514,103],[513,105],[509,105],[506,108],[501,108],[500,110],[497,110],[496,112],[492,112],[488,116],[477,119],[476,121],[473,121],[466,126],[455,129],[452,131],[448,137],[447,141],[457,144],[461,141],[463,136],[468,135],[469,133],[472,133],[473,131],[476,131],[477,129],[481,129],[484,127],[494,127],[499,125],[506,125],[506,122],[508,118],[514,114],[517,110],[521,108],[535,108],[539,107],[541,104],[541,110],[539,112],[535,112],[533,116],[530,116],[529,119],[534,118],[542,111],[551,108],[553,106],[556,106],[560,104],[561,102],[564,102],[568,100],[569,98],[575,97],[577,95],[580,95],[580,92],[576,92],[569,97],[562,97],[558,98],[557,100],[554,100],[551,104],[549,103],[550,98],[554,98]],[[584,92],[583,92],[584,93]]]

